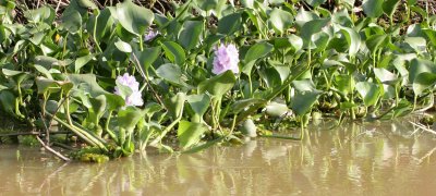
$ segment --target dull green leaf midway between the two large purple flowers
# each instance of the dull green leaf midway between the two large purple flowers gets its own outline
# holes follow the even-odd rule
[[[183,86],[182,70],[177,64],[162,64],[156,70],[157,76],[170,82],[177,86]]]

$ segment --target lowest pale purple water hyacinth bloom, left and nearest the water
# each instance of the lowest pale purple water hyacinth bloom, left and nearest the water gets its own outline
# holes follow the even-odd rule
[[[132,90],[132,94],[123,97],[125,99],[125,105],[128,106],[143,106],[144,101],[140,91],[140,83],[136,82],[136,78],[132,75],[129,75],[129,73],[124,73],[123,76],[117,76],[117,82],[121,85],[124,85],[129,87]],[[120,88],[116,86],[116,91],[114,94],[119,96],[123,96],[122,93],[120,91]]]

